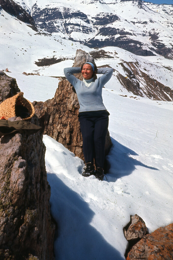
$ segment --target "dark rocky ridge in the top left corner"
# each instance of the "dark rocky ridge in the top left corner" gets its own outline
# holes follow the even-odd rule
[[[17,17],[18,20],[29,23],[30,27],[35,30],[37,30],[36,24],[30,16],[20,5],[16,4],[13,0],[0,0],[0,5],[4,11],[8,12],[10,15],[14,15]]]

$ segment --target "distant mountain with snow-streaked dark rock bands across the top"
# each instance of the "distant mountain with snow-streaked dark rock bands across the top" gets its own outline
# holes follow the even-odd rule
[[[87,46],[115,46],[137,55],[173,58],[173,5],[144,1],[16,1],[36,24]]]

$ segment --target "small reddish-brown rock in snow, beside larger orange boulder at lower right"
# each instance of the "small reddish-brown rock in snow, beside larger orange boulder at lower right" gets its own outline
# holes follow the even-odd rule
[[[137,214],[131,216],[130,226],[124,230],[124,235],[127,241],[138,238],[143,238],[146,235],[146,225],[144,220]]]

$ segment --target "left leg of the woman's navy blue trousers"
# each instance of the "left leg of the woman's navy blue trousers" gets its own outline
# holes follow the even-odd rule
[[[80,117],[79,122],[85,162],[94,164],[94,122],[85,117]]]

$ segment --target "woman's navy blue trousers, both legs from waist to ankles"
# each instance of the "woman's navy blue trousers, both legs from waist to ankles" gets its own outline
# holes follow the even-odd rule
[[[103,168],[105,159],[105,138],[109,123],[107,110],[79,113],[80,130],[83,138],[85,162]]]

